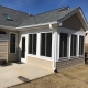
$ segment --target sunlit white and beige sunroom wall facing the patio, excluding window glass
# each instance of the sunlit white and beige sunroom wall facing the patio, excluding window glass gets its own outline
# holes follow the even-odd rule
[[[41,33],[47,33],[47,32],[52,32],[52,57],[46,57],[46,56],[41,56],[40,55],[40,50],[41,50]],[[29,48],[29,34],[33,34],[36,33],[37,34],[37,42],[36,42],[36,55],[33,54],[29,54],[28,53],[28,48]],[[54,37],[54,32],[53,30],[48,29],[48,28],[38,28],[38,29],[32,29],[32,30],[26,30],[26,31],[21,31],[19,32],[19,61],[24,62],[24,63],[34,63],[35,65],[40,65],[42,67],[45,68],[51,68],[53,69],[53,61],[54,61],[54,43],[55,43],[55,37]],[[22,44],[21,44],[21,40],[22,36],[25,36],[25,58],[21,58],[21,50],[22,50]]]

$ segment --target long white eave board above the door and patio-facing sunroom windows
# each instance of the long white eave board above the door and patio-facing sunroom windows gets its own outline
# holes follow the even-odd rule
[[[55,23],[57,23],[57,21],[48,22],[48,23],[40,23],[40,24],[34,24],[34,25],[19,26],[16,29],[18,29],[18,31],[23,31],[25,29],[31,29],[31,28],[35,28],[35,26],[42,26],[42,25],[50,25],[50,24],[55,24]]]

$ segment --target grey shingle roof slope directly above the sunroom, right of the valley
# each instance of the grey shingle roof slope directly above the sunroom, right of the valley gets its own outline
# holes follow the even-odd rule
[[[56,9],[53,11],[33,15],[24,20],[20,26],[58,21],[74,10],[75,9],[64,9],[64,10]]]

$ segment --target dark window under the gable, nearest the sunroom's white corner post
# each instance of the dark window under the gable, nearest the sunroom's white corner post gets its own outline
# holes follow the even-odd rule
[[[67,57],[67,37],[68,34],[61,33],[59,57]]]

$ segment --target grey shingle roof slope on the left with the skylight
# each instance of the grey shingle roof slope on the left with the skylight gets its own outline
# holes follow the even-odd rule
[[[10,21],[9,20],[10,18],[13,21]],[[13,10],[13,9],[0,6],[0,25],[16,28],[26,18],[29,18],[29,13],[21,12],[21,11],[18,11],[18,10]]]

